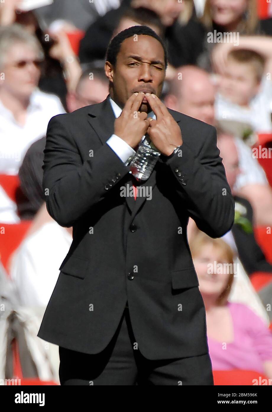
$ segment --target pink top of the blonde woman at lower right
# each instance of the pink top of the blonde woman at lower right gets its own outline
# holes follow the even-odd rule
[[[254,370],[264,373],[263,361],[272,361],[272,333],[264,321],[242,303],[228,302],[234,340],[226,344],[207,338],[213,370]]]

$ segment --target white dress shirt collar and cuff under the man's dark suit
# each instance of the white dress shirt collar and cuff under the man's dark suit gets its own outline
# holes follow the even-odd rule
[[[110,102],[111,102],[111,107],[113,109],[113,113],[115,117],[116,118],[119,117],[122,113],[122,109],[111,98],[110,98]],[[148,117],[152,117],[153,119],[156,119],[156,115],[153,112],[150,112],[148,114]],[[144,138],[145,138],[145,135],[142,137],[142,141]],[[113,152],[115,152],[116,155],[124,163],[127,162],[127,159],[129,157],[136,154],[135,150],[132,149],[132,147],[129,146],[123,139],[116,136],[116,134],[111,135],[111,137],[106,141],[106,143],[111,147]]]

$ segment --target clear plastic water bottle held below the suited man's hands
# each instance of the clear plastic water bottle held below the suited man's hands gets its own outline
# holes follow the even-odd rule
[[[137,180],[147,180],[154,169],[161,153],[150,140],[148,134],[139,144],[138,150],[131,161],[130,171]]]

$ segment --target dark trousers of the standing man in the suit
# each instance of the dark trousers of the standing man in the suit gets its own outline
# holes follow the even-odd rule
[[[61,385],[213,385],[209,354],[151,361],[135,347],[129,309],[106,349],[88,355],[59,346]],[[171,342],[169,342],[171,345]],[[156,348],[154,348],[156,350]]]

